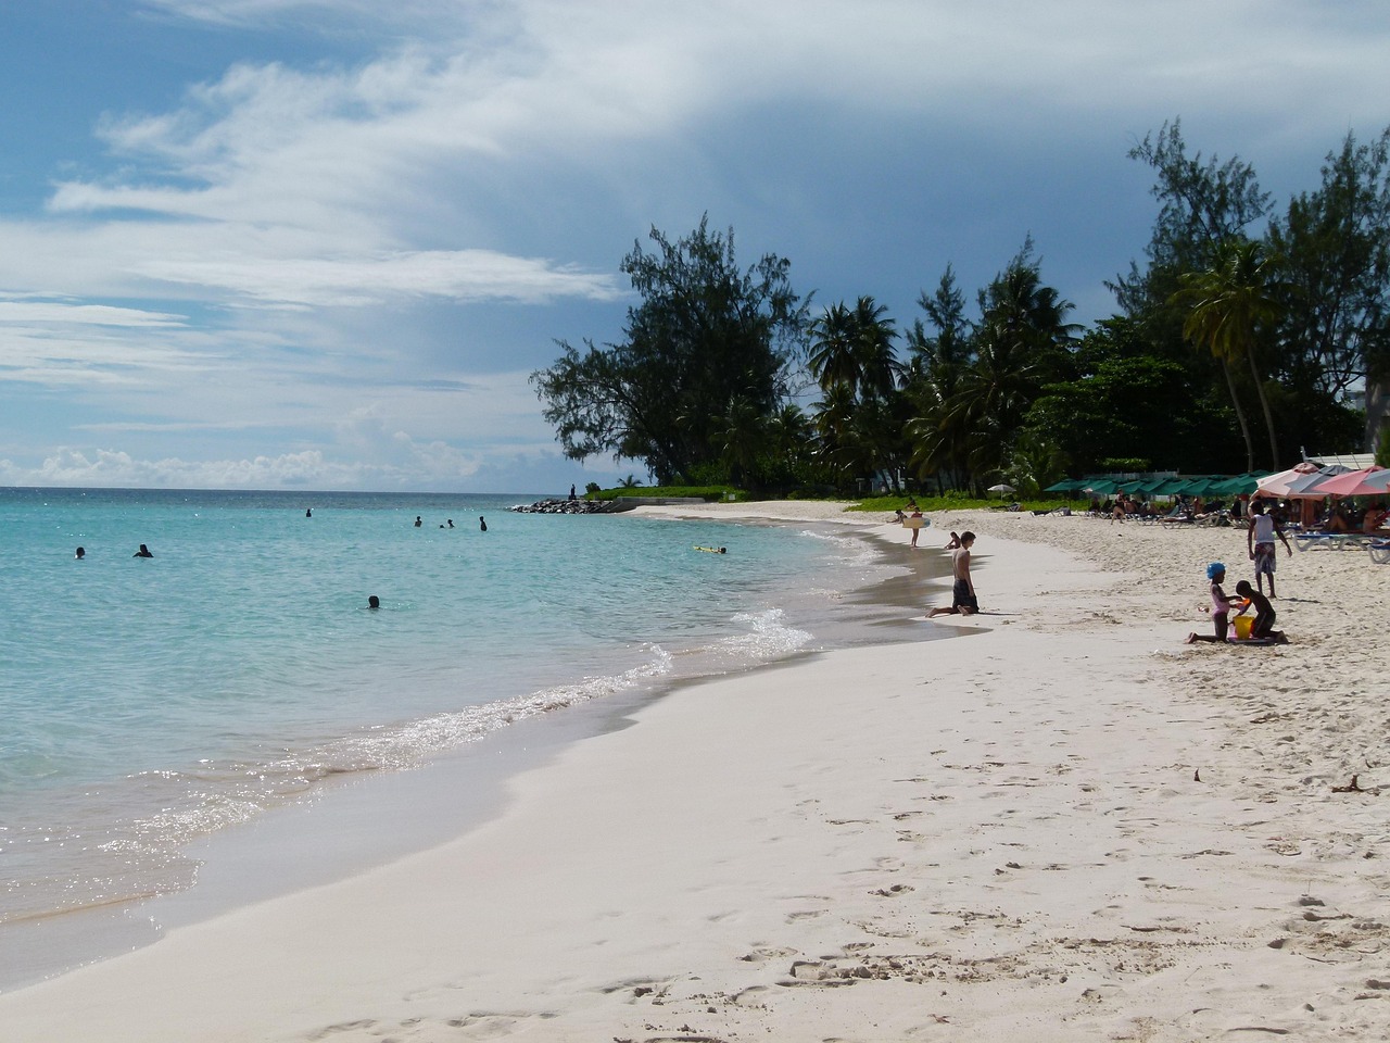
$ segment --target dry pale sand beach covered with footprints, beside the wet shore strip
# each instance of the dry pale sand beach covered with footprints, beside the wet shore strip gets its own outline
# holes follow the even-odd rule
[[[0,997],[3,1037],[1390,1035],[1390,566],[1280,551],[1291,644],[1187,647],[1241,530],[948,528],[988,615],[920,626],[958,640],[680,688],[445,846]]]

